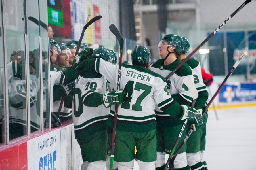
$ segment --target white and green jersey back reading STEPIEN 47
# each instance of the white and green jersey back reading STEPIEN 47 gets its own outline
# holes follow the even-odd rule
[[[104,75],[114,86],[117,83],[118,65],[97,59],[95,70]],[[122,64],[120,89],[126,92],[124,102],[119,105],[117,130],[146,132],[156,129],[155,104],[171,102],[165,79],[140,65]],[[109,118],[113,120],[114,114]]]

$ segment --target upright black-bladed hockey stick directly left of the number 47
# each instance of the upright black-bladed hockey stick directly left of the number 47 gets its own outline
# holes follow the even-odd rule
[[[121,68],[122,68],[122,60],[123,60],[123,37],[116,28],[114,24],[109,25],[109,30],[116,36],[117,40],[120,44],[120,55],[119,55],[119,67],[118,67],[118,77],[117,77],[117,91],[120,90],[120,82],[121,82]],[[111,155],[110,155],[110,167],[109,169],[113,169],[114,163],[114,150],[115,150],[115,142],[116,142],[116,124],[117,124],[117,112],[118,112],[118,104],[115,106],[115,115],[114,115],[114,124],[113,124],[113,135],[112,135],[112,145],[111,145]]]

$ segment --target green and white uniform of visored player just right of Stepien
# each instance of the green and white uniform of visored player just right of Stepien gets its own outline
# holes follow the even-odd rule
[[[180,60],[176,59],[173,63],[169,65],[163,64],[163,59],[159,59],[156,61],[152,67],[150,67],[150,70],[160,74],[163,77],[166,77],[171,73],[173,69],[179,63],[181,63]],[[185,104],[190,105],[193,100],[193,95],[190,92],[190,90],[186,87],[186,85],[183,83],[183,78],[188,76],[191,80],[193,80],[193,75],[190,67],[184,63],[176,72],[173,74],[170,78],[168,78],[167,81],[167,90],[177,101],[179,104]],[[156,167],[160,167],[165,162],[165,152],[167,154],[171,153],[171,149],[173,148],[175,141],[179,135],[179,132],[182,128],[182,125],[184,124],[184,120],[177,120],[174,119],[172,116],[161,112],[161,110],[156,107],[156,121],[158,123],[158,133],[157,133],[157,152],[158,157],[156,161]],[[187,127],[184,129],[184,133],[182,133],[181,139],[178,143],[178,146],[182,143],[183,139],[186,137],[186,130]],[[190,128],[188,128],[190,129]],[[176,148],[176,150],[178,147]],[[184,161],[184,165],[181,165],[180,167],[186,167],[186,143],[182,147],[181,151],[177,155],[177,158],[181,157]],[[181,154],[182,153],[182,154]]]

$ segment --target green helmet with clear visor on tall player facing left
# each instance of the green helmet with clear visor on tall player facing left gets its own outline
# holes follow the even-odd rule
[[[171,47],[175,49],[178,54],[182,53],[184,44],[183,44],[182,38],[179,35],[174,35],[174,34],[165,35],[158,44],[158,50],[160,49],[160,45],[163,41],[168,42],[168,45],[167,45],[168,48]]]

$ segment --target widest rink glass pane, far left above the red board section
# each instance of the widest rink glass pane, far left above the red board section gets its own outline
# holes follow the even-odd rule
[[[4,1],[9,97],[9,140],[27,135],[24,5]],[[8,67],[8,66],[7,66]],[[11,69],[12,72],[9,71]]]

